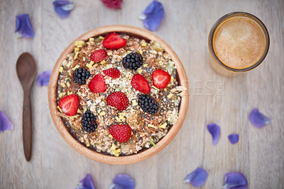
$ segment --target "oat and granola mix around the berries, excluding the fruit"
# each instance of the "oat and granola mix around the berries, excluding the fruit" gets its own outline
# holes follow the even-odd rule
[[[175,63],[162,45],[156,41],[146,41],[126,34],[120,34],[120,37],[125,38],[127,43],[123,48],[116,50],[104,48],[103,36],[89,38],[88,41],[76,41],[74,51],[62,61],[58,76],[57,102],[71,94],[77,94],[80,100],[77,114],[67,116],[58,106],[58,117],[62,117],[70,133],[82,144],[110,156],[131,155],[155,146],[178,120],[180,94],[186,90],[178,86]],[[90,55],[94,50],[100,49],[107,50],[107,57],[99,63],[94,63]],[[126,69],[121,63],[123,58],[132,52],[140,53],[143,57],[143,65],[137,70]],[[77,68],[85,68],[90,72],[86,85],[73,82],[73,72]],[[103,70],[109,68],[118,69],[121,72],[120,77],[114,79],[104,75]],[[165,89],[158,89],[152,85],[151,75],[157,69],[165,70],[171,76]],[[155,114],[143,112],[138,105],[138,95],[142,93],[131,86],[131,78],[137,73],[143,75],[150,83],[149,95],[159,104],[158,112]],[[89,90],[88,84],[97,74],[104,76],[106,92],[94,93]],[[116,91],[124,92],[129,99],[129,106],[123,111],[107,104],[108,95]],[[82,115],[87,110],[97,117],[97,129],[91,133],[84,131],[81,125]],[[129,141],[120,143],[109,134],[109,127],[113,124],[128,124],[131,127]]]

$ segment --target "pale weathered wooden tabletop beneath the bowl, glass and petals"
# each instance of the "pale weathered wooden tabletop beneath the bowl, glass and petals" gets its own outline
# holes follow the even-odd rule
[[[185,175],[202,167],[208,172],[202,188],[222,188],[224,174],[244,173],[249,188],[284,188],[284,1],[160,0],[165,17],[155,31],[178,54],[190,81],[187,118],[175,139],[155,156],[126,166],[92,161],[61,138],[48,109],[48,87],[33,83],[33,152],[26,162],[22,142],[23,91],[16,60],[31,53],[38,73],[51,70],[64,48],[77,36],[99,26],[126,24],[143,28],[138,20],[151,0],[124,0],[121,10],[107,9],[101,1],[76,1],[65,19],[53,10],[53,1],[0,1],[0,110],[14,129],[0,133],[0,188],[75,188],[87,173],[97,188],[109,188],[118,173],[135,180],[136,188],[193,188]],[[236,77],[218,75],[209,66],[207,37],[225,13],[246,11],[266,24],[271,46],[256,69]],[[29,13],[33,39],[16,39],[15,16]],[[258,108],[272,119],[261,129],[249,122]],[[212,146],[207,124],[221,127]],[[237,144],[227,136],[240,135]]]

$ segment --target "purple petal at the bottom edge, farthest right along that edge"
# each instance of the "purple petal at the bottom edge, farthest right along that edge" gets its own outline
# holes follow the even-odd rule
[[[242,173],[229,172],[225,175],[224,189],[246,189],[248,182]]]

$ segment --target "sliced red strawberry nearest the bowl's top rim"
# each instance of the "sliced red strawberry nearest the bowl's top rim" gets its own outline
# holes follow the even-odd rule
[[[109,33],[104,38],[102,45],[104,45],[105,48],[109,49],[119,49],[123,48],[126,45],[126,42],[126,39],[119,37],[119,34]]]

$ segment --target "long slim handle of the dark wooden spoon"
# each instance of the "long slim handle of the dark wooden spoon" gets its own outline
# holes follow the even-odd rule
[[[32,121],[31,121],[31,99],[30,92],[23,92],[23,151],[26,161],[31,159],[31,139],[32,139]]]

